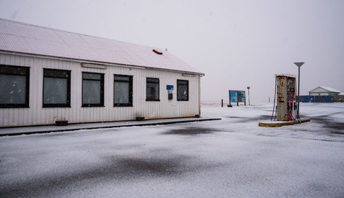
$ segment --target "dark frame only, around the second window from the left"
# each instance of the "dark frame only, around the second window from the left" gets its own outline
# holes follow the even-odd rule
[[[49,76],[45,75],[45,71],[50,71],[50,72],[66,72],[67,77],[56,77],[56,76]],[[56,103],[56,104],[45,104],[44,103],[44,78],[65,78],[67,79],[67,101],[66,103]],[[70,91],[71,91],[71,83],[70,83],[70,78],[71,78],[71,70],[67,69],[51,69],[51,68],[43,68],[43,96],[42,96],[42,107],[43,108],[49,108],[49,107],[71,107],[70,105]]]

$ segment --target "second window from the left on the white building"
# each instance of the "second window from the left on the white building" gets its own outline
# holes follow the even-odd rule
[[[43,107],[70,107],[70,71],[43,69]]]

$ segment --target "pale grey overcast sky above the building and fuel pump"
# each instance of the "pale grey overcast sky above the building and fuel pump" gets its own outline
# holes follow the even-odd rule
[[[275,74],[297,75],[301,95],[344,91],[344,1],[0,1],[0,17],[167,48],[206,74],[202,100],[250,86],[274,97]]]

